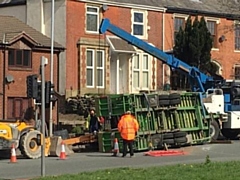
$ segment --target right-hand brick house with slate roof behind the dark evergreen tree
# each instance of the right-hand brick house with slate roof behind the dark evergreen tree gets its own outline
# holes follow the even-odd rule
[[[234,1],[232,1],[234,3]],[[229,1],[230,3],[230,1]],[[217,72],[225,79],[238,78],[240,75],[240,25],[238,11],[233,6],[225,6],[218,0],[183,0],[161,4],[166,8],[164,14],[165,39],[164,50],[171,51],[174,34],[184,24],[189,15],[192,19],[203,16],[213,38],[212,61],[219,67]],[[236,4],[236,7],[240,7]],[[223,9],[224,8],[224,9]],[[224,12],[224,13],[223,13]]]

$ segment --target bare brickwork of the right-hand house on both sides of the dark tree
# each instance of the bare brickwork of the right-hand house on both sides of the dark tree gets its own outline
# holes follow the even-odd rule
[[[187,16],[187,14],[186,14]],[[200,19],[201,16],[199,16]],[[209,16],[205,16],[209,18]],[[195,18],[194,16],[192,17]],[[212,60],[218,62],[222,68],[222,76],[225,79],[232,79],[234,75],[234,64],[240,63],[240,51],[235,51],[235,31],[234,21],[226,18],[219,19],[217,26],[217,36],[225,36],[226,40],[218,42],[218,48],[212,49]],[[172,13],[165,14],[165,49],[171,50],[173,47],[174,18]]]

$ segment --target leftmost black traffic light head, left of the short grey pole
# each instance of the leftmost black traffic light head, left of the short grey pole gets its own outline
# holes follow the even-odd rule
[[[37,75],[29,75],[27,76],[27,97],[36,99],[37,94],[37,88],[38,88],[38,76]]]

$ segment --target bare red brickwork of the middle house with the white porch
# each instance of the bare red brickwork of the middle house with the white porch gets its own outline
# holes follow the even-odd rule
[[[131,33],[131,9],[123,7],[109,6],[108,10],[103,13],[103,18],[109,18],[110,21],[120,28]],[[154,44],[158,48],[162,48],[162,13],[148,12],[148,42]],[[109,33],[107,33],[109,34]],[[79,66],[77,56],[77,42],[80,37],[96,38],[99,35],[87,34],[85,32],[85,3],[67,1],[67,82],[66,90],[77,90],[79,80]],[[101,38],[104,38],[101,35]],[[157,62],[158,69],[161,69],[161,62]],[[83,74],[81,74],[82,76]],[[83,80],[81,81],[83,83]],[[159,88],[162,85],[162,72],[157,71],[157,83],[155,86]],[[81,86],[81,85],[80,85]]]

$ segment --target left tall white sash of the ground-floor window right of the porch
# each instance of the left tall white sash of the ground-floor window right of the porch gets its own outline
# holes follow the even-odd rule
[[[133,87],[140,87],[140,63],[139,55],[133,57]]]

